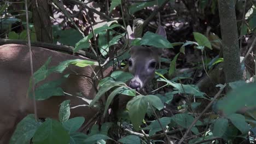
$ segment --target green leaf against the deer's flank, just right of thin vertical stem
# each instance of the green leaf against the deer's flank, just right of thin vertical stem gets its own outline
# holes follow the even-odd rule
[[[65,95],[63,89],[60,87],[64,79],[49,81],[35,89],[36,100],[45,100],[51,96]],[[32,98],[32,92],[30,93]]]

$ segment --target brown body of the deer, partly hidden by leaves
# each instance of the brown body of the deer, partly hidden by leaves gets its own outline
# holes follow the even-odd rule
[[[51,56],[50,65],[57,65],[67,59],[77,59],[80,57],[66,55],[65,53],[43,49],[41,47],[32,47],[33,67],[39,69],[44,62]],[[94,75],[92,69],[95,67],[71,67],[65,73],[83,74],[87,76]],[[110,71],[106,71],[107,74]],[[28,113],[34,113],[32,100],[26,97],[28,84],[30,80],[30,55],[24,45],[8,44],[0,46],[0,139],[4,143],[5,137],[9,139],[9,134],[17,122],[24,118]],[[48,80],[59,79],[62,74],[52,74]],[[70,75],[62,88],[69,94],[81,92],[87,99],[93,99],[95,89],[91,80],[84,76]],[[37,101],[38,117],[58,118],[59,105],[62,101],[70,99],[71,106],[88,105],[84,100],[74,96],[51,97],[47,100]],[[86,121],[97,112],[96,108],[80,106],[71,109],[71,117],[84,116]]]

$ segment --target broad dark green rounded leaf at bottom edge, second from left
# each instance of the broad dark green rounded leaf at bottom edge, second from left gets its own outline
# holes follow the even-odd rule
[[[47,118],[46,121],[37,129],[32,142],[35,144],[69,143],[70,137],[60,122]]]

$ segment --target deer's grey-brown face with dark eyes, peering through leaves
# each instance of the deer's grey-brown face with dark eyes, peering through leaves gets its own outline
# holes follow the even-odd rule
[[[164,27],[159,26],[156,34],[166,38]],[[132,46],[131,58],[129,59],[129,71],[133,74],[130,87],[139,90],[153,79],[156,65],[159,63],[162,49],[150,46]]]

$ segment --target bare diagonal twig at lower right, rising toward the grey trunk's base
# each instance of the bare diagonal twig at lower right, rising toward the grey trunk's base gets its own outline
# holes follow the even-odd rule
[[[191,130],[191,128],[194,127],[195,123],[199,120],[199,118],[203,115],[203,113],[205,113],[210,106],[213,104],[213,102],[219,97],[220,93],[222,93],[224,88],[220,89],[219,92],[214,96],[214,98],[212,99],[212,101],[205,107],[205,109],[202,111],[202,113],[195,118],[195,120],[193,121],[193,123],[191,123],[191,125],[189,126],[188,130],[185,132],[184,136],[182,137],[182,139],[178,142],[178,144],[181,144],[187,137],[189,131]]]

